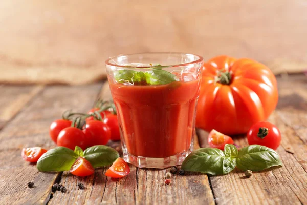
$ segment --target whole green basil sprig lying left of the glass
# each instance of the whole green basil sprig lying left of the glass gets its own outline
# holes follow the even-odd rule
[[[87,148],[84,152],[79,147],[76,147],[75,151],[66,147],[56,147],[38,159],[37,169],[42,172],[68,171],[79,157],[85,158],[96,168],[111,165],[119,154],[115,149],[104,145]]]

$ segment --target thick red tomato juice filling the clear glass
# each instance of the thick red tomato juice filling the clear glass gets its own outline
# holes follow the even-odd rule
[[[169,157],[190,149],[200,79],[166,85],[123,85],[110,80],[121,140],[134,156]]]

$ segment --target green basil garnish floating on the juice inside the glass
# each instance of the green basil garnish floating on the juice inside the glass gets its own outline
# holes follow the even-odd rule
[[[162,70],[162,68],[166,67],[169,66],[161,66],[158,64],[155,67],[148,67],[152,70],[144,72],[128,69],[119,70],[114,73],[114,78],[117,83],[126,85],[165,85],[173,81],[178,81],[176,75],[166,70]]]

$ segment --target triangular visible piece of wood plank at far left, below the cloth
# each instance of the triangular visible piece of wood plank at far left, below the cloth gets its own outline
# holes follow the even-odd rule
[[[42,89],[41,85],[0,85],[0,130]]]

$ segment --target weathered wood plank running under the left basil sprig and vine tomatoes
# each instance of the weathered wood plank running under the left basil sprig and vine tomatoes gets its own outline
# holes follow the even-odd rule
[[[22,147],[55,147],[49,138],[51,122],[63,111],[87,111],[93,106],[101,84],[46,87],[28,107],[0,132],[0,204],[47,203],[51,187],[61,173],[38,172],[20,157]],[[65,173],[64,173],[65,174]],[[35,188],[28,188],[33,181]]]

